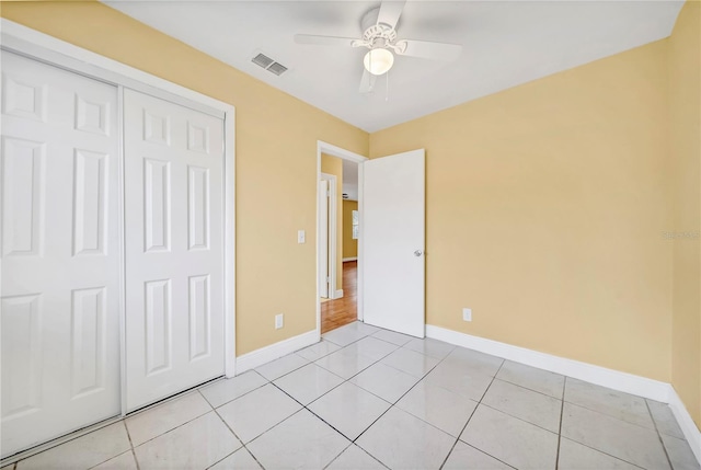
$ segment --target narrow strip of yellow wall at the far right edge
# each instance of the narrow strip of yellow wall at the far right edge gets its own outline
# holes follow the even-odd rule
[[[674,219],[671,383],[701,427],[701,4],[682,8],[669,39]],[[689,238],[686,238],[689,237]]]

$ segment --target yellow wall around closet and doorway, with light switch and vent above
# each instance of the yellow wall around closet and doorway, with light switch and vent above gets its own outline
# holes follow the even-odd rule
[[[367,133],[102,3],[2,2],[1,14],[235,106],[237,353],[313,330],[317,140],[367,154]]]

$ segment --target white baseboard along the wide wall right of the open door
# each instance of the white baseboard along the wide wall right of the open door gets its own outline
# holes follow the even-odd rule
[[[472,336],[458,331],[448,330],[440,326],[426,325],[426,336],[434,340],[445,341],[470,349],[492,354],[497,357],[562,374],[563,376],[608,387],[613,390],[636,394],[651,400],[669,402],[669,383],[634,376],[628,372],[607,369],[606,367],[593,364],[581,363],[578,360],[553,356],[525,347],[513,346],[498,341],[484,337]]]

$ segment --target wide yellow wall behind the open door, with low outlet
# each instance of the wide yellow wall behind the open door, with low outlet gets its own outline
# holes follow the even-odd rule
[[[426,149],[428,324],[669,381],[666,53],[370,136],[372,158]]]

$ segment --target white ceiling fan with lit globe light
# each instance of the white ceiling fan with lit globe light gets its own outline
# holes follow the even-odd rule
[[[364,47],[368,51],[363,59],[364,71],[360,79],[360,93],[372,91],[378,76],[387,73],[398,56],[420,57],[423,59],[452,61],[462,51],[458,44],[433,43],[428,41],[398,39],[397,23],[402,10],[403,1],[383,1],[379,8],[367,12],[360,20],[363,37],[317,36],[311,34],[296,34],[297,44],[318,46]]]

